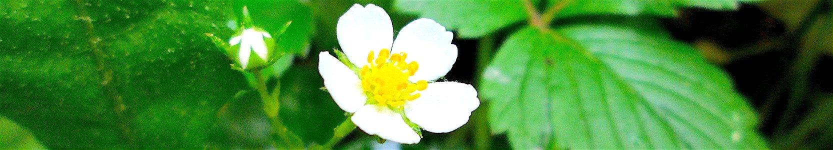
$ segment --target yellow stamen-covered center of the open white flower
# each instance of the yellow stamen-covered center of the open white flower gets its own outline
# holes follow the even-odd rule
[[[405,52],[393,53],[382,49],[374,59],[373,51],[367,54],[367,65],[362,67],[362,88],[367,97],[378,105],[402,107],[407,101],[420,97],[428,82],[425,80],[409,82],[408,77],[414,75],[419,65],[416,62],[405,62],[408,56]],[[412,94],[413,93],[413,94]]]

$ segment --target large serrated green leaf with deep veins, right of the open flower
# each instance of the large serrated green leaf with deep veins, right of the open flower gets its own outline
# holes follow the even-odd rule
[[[511,34],[479,88],[492,131],[518,149],[766,148],[724,72],[629,21]]]

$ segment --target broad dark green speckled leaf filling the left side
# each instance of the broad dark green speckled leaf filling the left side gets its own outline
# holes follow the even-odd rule
[[[232,34],[231,3],[2,4],[0,114],[47,148],[226,148],[217,111],[247,85],[203,33]]]

